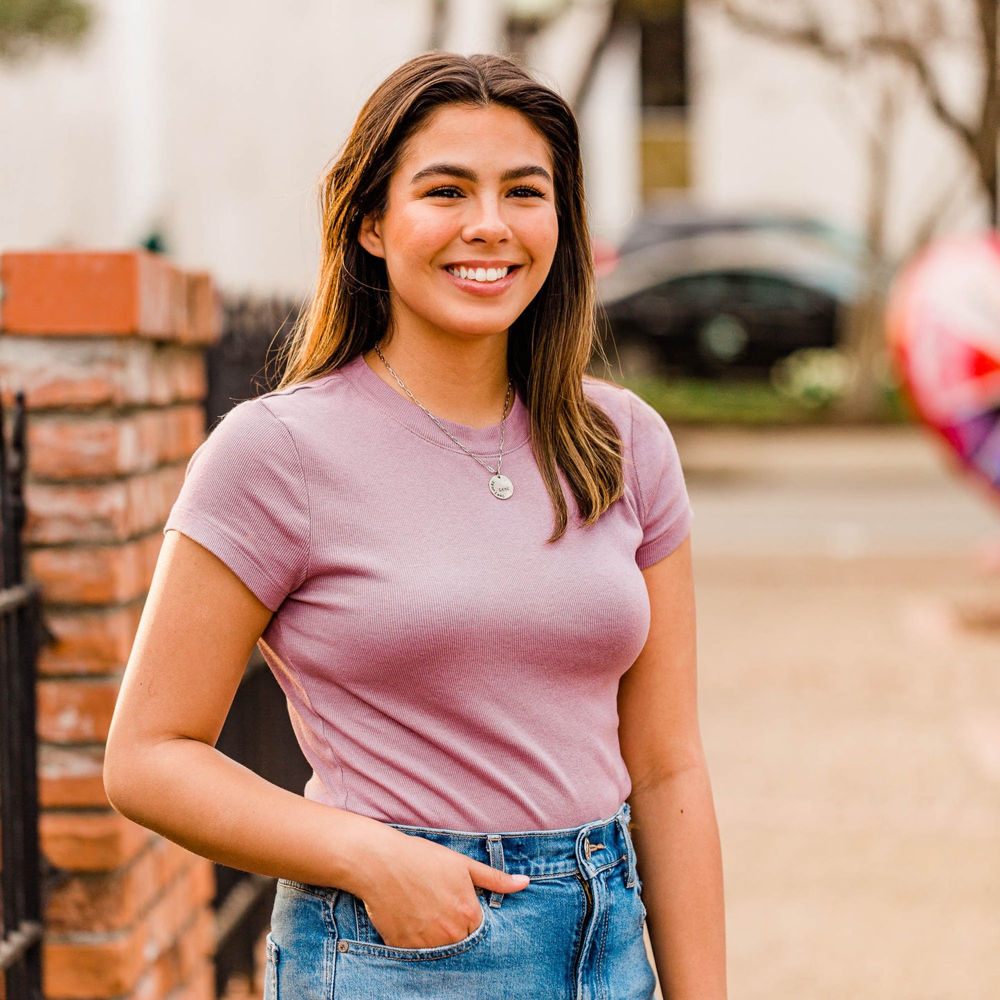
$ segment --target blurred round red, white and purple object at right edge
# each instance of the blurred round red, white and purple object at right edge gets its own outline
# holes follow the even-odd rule
[[[893,286],[887,333],[920,418],[1000,493],[1000,234],[923,251]]]

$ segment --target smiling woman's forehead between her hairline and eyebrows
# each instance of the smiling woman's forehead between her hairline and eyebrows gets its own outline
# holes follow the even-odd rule
[[[413,171],[434,161],[499,170],[532,163],[552,173],[546,139],[519,111],[499,104],[450,104],[432,112],[410,137],[399,173],[406,173],[408,180]]]

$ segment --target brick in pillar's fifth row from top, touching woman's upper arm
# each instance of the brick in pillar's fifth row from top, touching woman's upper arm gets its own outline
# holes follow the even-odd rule
[[[28,565],[50,603],[123,604],[149,589],[162,544],[157,531],[123,545],[34,549]]]

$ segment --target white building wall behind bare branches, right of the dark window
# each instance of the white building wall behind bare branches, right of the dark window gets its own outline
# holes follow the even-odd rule
[[[957,9],[963,0],[954,2]],[[692,3],[689,27],[696,200],[722,210],[805,213],[860,234],[871,91],[808,52],[741,31],[714,5]],[[976,101],[974,59],[958,48],[936,55],[949,101],[968,111]],[[907,107],[892,143],[887,242],[895,253],[908,249],[942,203],[946,229],[984,220],[956,141],[919,98]]]

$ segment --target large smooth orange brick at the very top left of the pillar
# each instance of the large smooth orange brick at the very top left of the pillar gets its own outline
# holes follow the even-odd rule
[[[177,332],[183,279],[156,254],[5,253],[0,281],[5,333],[171,337]]]

